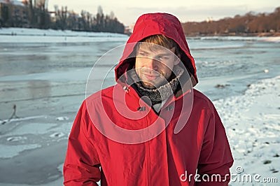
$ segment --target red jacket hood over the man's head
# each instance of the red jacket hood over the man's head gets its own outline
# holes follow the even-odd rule
[[[177,17],[168,13],[147,13],[138,18],[134,25],[133,33],[125,45],[123,57],[120,58],[120,63],[115,68],[116,81],[127,71],[132,63],[130,55],[136,43],[148,36],[158,34],[172,38],[183,50],[181,61],[188,69],[193,86],[195,86],[198,83],[195,60],[190,55],[190,49],[188,48],[181,22]]]

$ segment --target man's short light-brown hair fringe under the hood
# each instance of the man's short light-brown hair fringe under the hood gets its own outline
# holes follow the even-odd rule
[[[153,43],[155,45],[161,45],[162,47],[165,47],[168,49],[175,48],[175,55],[178,55],[179,51],[181,50],[179,45],[172,38],[169,38],[165,35],[160,35],[160,34],[148,36],[139,42],[141,42],[141,43],[139,43],[138,46],[141,48],[142,47],[149,48],[151,46],[151,45],[146,45],[146,43]]]

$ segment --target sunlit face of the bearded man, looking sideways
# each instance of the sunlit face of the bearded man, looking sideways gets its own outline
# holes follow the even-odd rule
[[[167,83],[174,65],[179,64],[174,52],[175,48],[167,49],[158,45],[138,47],[135,70],[144,87],[153,89]]]

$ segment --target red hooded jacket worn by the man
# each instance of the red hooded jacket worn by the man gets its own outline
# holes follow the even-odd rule
[[[195,85],[195,61],[176,17],[142,15],[127,43],[154,34],[179,44],[185,53],[181,60]],[[116,80],[125,74],[132,50],[125,48],[116,66]],[[190,97],[192,106],[183,102]],[[183,128],[176,130],[179,121]],[[64,185],[97,185],[100,179],[102,185],[228,185],[232,162],[223,124],[204,94],[194,89],[182,91],[159,114],[122,79],[93,94],[80,107],[69,136]],[[195,182],[196,171],[200,182]],[[204,174],[209,178],[220,174],[225,182],[204,182]]]

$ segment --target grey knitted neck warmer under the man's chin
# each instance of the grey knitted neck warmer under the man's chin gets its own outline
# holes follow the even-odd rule
[[[174,94],[179,85],[179,78],[183,74],[183,68],[176,65],[172,71],[171,80],[165,85],[161,85],[160,87],[154,89],[148,89],[144,87],[141,83],[139,76],[137,75],[135,69],[130,70],[130,77],[134,81],[134,84],[137,87],[137,90],[141,94],[141,96],[148,96],[151,101],[152,105],[156,103],[161,103],[163,100],[167,99],[169,96]]]

